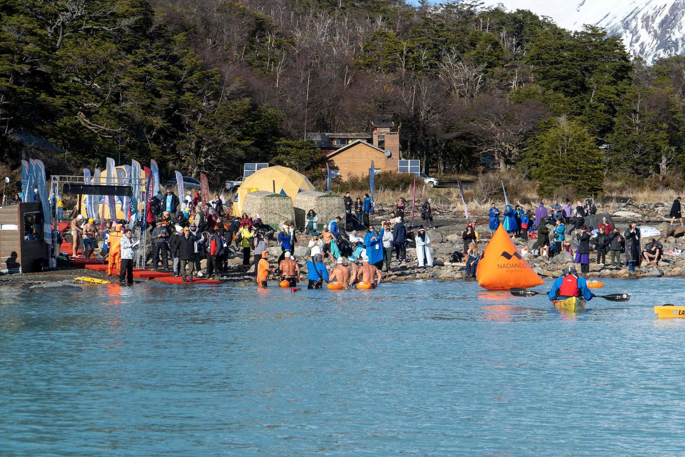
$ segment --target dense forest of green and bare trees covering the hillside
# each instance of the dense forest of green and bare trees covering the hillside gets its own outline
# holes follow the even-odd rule
[[[305,132],[395,121],[432,173],[512,169],[540,193],[685,165],[685,58],[646,66],[595,27],[401,0],[0,0],[0,147],[49,172],[155,158],[215,182],[319,168]]]

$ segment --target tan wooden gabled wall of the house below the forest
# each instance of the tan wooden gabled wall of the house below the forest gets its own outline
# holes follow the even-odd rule
[[[386,158],[385,153],[379,149],[360,141],[350,145],[340,152],[332,153],[328,157],[328,164],[332,169],[337,169],[343,180],[349,177],[369,176],[371,161],[375,169],[381,171],[397,172],[397,158]]]

